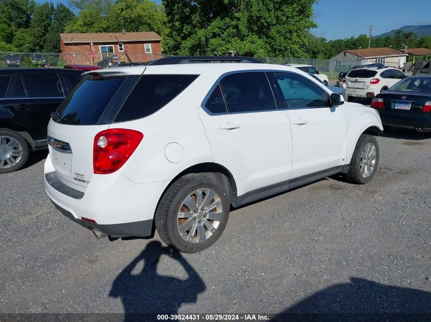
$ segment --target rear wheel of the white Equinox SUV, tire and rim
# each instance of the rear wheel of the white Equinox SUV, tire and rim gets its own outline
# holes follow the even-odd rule
[[[207,175],[187,174],[165,192],[156,210],[160,238],[184,253],[202,251],[221,236],[229,219],[229,195]]]

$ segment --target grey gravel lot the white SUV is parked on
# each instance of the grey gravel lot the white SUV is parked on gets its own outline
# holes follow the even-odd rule
[[[52,206],[33,154],[0,178],[0,313],[431,314],[431,134],[377,140],[370,184],[333,177],[233,210],[215,245],[181,255],[157,234],[96,240]]]

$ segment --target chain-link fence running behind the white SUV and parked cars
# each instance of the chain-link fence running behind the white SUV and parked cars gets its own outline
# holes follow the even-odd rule
[[[0,68],[8,67],[64,67],[65,65],[96,65],[100,67],[115,67],[119,63],[148,62],[164,56],[153,53],[12,53],[0,52]],[[324,73],[329,79],[336,79],[340,72],[345,72],[355,65],[361,65],[361,61],[331,61],[302,58],[274,58],[257,57],[267,64],[301,64],[311,65],[316,70]]]

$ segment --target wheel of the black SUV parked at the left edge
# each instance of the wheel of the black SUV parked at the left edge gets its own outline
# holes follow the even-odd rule
[[[29,158],[30,148],[18,133],[0,129],[0,174],[20,169]]]

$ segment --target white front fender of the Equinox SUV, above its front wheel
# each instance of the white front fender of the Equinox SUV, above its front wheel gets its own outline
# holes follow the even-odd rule
[[[348,164],[361,134],[370,127],[377,127],[383,131],[383,125],[380,116],[374,108],[348,102],[345,102],[342,107],[341,110],[346,120],[346,164]]]

